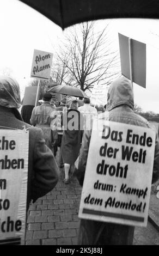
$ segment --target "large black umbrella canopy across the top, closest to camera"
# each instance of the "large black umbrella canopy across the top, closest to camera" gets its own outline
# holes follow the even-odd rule
[[[79,22],[112,18],[159,18],[159,1],[21,0],[62,29]]]

